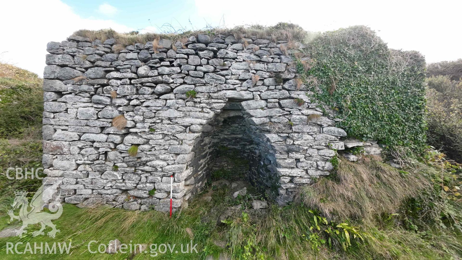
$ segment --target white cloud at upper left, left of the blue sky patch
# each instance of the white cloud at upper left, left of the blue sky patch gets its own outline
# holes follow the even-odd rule
[[[6,6],[5,6],[6,5]],[[26,6],[26,7],[25,7]],[[47,43],[61,42],[79,29],[133,31],[112,20],[85,19],[60,0],[6,1],[0,16],[0,59],[43,76]]]

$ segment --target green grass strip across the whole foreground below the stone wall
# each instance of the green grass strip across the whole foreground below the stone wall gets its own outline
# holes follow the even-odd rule
[[[333,222],[316,211],[295,204],[282,208],[252,211],[232,209],[232,205],[245,205],[245,199],[231,199],[228,188],[208,189],[198,196],[188,209],[174,213],[172,218],[156,211],[126,211],[114,208],[79,209],[65,204],[62,216],[55,220],[61,233],[55,239],[37,237],[12,237],[0,239],[0,247],[6,242],[72,242],[71,254],[60,259],[132,259],[131,254],[90,254],[88,242],[108,244],[119,239],[122,243],[161,244],[189,243],[192,233],[195,254],[159,254],[154,259],[203,259],[208,254],[225,252],[235,259],[444,259],[446,253],[434,248],[418,234],[402,227],[390,225],[380,228],[353,222]],[[212,196],[209,203],[203,198]],[[232,209],[232,216],[223,227],[217,226],[217,217]],[[0,217],[7,224],[9,217]],[[317,222],[314,221],[316,218]],[[339,227],[340,226],[340,227]],[[30,226],[29,231],[39,229]],[[331,234],[327,233],[330,230]],[[349,231],[349,242],[345,230]],[[338,234],[337,232],[338,231]],[[361,238],[359,238],[361,236]],[[223,241],[229,248],[215,244]],[[448,241],[440,241],[448,242]],[[448,242],[449,243],[449,242]],[[344,249],[345,247],[345,249]],[[19,246],[24,250],[24,246]],[[95,250],[95,247],[91,248]],[[148,248],[149,251],[149,248]],[[17,255],[0,251],[3,259],[17,259]],[[55,255],[28,255],[29,259],[55,259]],[[150,259],[148,254],[133,259]]]

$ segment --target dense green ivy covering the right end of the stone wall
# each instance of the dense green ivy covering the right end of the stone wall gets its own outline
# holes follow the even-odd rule
[[[418,52],[390,50],[368,27],[353,26],[322,33],[304,55],[312,67],[306,71],[298,59],[298,73],[324,107],[337,111],[348,136],[423,149],[425,59]]]

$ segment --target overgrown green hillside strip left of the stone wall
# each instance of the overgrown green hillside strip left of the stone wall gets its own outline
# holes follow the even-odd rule
[[[6,174],[9,167],[30,173],[42,166],[42,97],[36,74],[0,63],[0,210],[12,203],[15,190],[35,192],[40,186],[40,180],[10,180]]]

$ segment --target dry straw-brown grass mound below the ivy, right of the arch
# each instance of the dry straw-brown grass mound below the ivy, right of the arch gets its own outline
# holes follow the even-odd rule
[[[329,218],[371,221],[382,213],[395,213],[404,199],[430,186],[419,173],[397,171],[378,157],[357,163],[339,159],[333,176],[304,187],[304,204]]]

